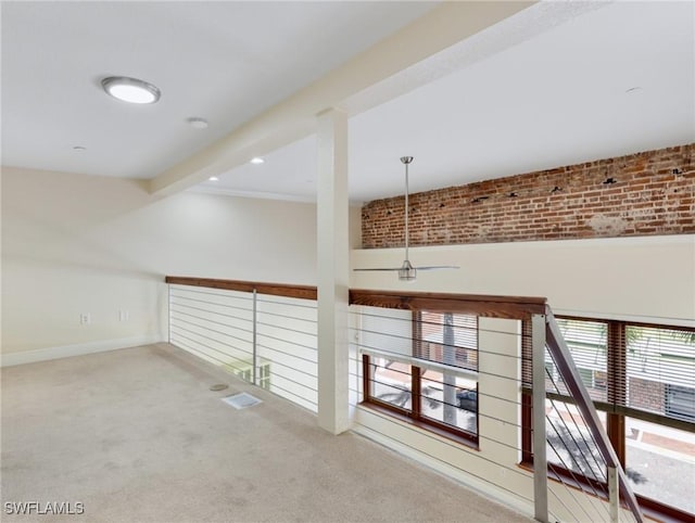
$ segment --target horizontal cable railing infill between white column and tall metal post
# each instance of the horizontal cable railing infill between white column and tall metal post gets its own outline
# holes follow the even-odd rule
[[[521,355],[517,349],[520,332],[509,332],[494,327],[455,327],[453,340],[446,340],[448,343],[444,344],[443,335],[427,332],[428,329],[432,331],[433,327],[442,330],[442,322],[434,321],[431,316],[414,321],[410,310],[382,310],[384,309],[370,306],[351,307],[350,340],[353,346],[350,360],[350,392],[351,406],[358,411],[356,423],[361,425],[359,432],[377,439],[396,441],[399,446],[424,457],[434,467],[442,467],[455,475],[465,476],[469,484],[472,477],[480,488],[494,488],[502,496],[516,499],[521,506],[532,502],[533,495],[528,488],[530,472],[518,467],[519,446],[517,437],[511,435],[513,432],[516,434],[521,431],[518,419],[521,407]],[[458,319],[459,323],[465,323],[463,318]],[[497,341],[506,339],[506,343],[503,341],[500,345],[490,346],[490,352],[485,353],[484,357],[485,348],[478,348],[476,345],[478,354],[475,366],[467,365],[462,358],[456,361],[456,356],[466,355],[471,349],[470,334],[483,339],[493,336]],[[422,345],[428,343],[432,346],[424,349]],[[511,346],[513,350],[509,348]],[[413,347],[419,347],[420,354],[414,356]],[[371,372],[366,382],[365,356],[370,358],[367,369]],[[444,363],[446,359],[453,360],[455,365]],[[506,361],[506,365],[488,365],[491,359]],[[394,362],[409,367],[396,368],[391,365]],[[407,422],[406,419],[413,416],[412,412],[403,412],[402,417],[394,418],[389,410],[394,404],[395,407],[405,410],[412,409],[412,367],[422,371],[419,394],[422,403],[427,404],[422,407],[422,410],[427,410],[427,416],[421,416],[419,421],[435,423],[432,432],[422,430],[419,422]],[[507,372],[504,369],[513,370]],[[455,377],[458,382],[447,380],[445,375]],[[444,397],[445,387],[452,386],[452,381],[459,385],[458,391],[471,386],[476,390],[475,403],[480,403],[480,408],[476,405],[475,413],[463,408],[456,399],[452,401],[451,397]],[[386,409],[365,408],[365,383],[372,387],[369,394],[371,403],[366,405]],[[510,396],[496,394],[495,388],[489,386],[494,383],[502,383],[503,387],[516,390],[516,393],[513,392]],[[427,391],[424,391],[426,387]],[[390,395],[396,396],[397,399]],[[456,412],[452,428],[467,433],[463,434],[463,438],[437,431],[440,423],[444,422],[445,409]],[[471,419],[475,423],[469,422]],[[478,450],[471,448],[468,451],[470,447]],[[492,470],[494,473],[490,473]],[[527,488],[511,487],[520,483],[526,483]]]

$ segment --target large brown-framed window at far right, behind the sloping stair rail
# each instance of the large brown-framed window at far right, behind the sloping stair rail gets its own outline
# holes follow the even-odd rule
[[[640,502],[675,519],[692,519],[695,331],[578,318],[558,318],[558,323]],[[525,326],[525,333],[529,332]],[[523,358],[530,359],[529,343],[522,347]],[[523,368],[525,385],[530,386],[530,367]],[[546,391],[555,393],[561,418],[563,411],[570,413],[574,407],[569,400],[563,403],[566,391],[553,386],[557,373],[552,362],[546,361]],[[522,457],[530,461],[530,395],[522,405]],[[581,434],[566,434],[566,428],[554,419],[546,424],[553,470],[586,483],[602,481],[604,474],[590,464],[591,452],[580,448]],[[580,444],[555,451],[554,442]]]

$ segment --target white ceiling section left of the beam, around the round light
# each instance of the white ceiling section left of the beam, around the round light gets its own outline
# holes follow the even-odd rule
[[[152,178],[433,5],[2,1],[2,163]],[[105,76],[162,99],[111,99]]]

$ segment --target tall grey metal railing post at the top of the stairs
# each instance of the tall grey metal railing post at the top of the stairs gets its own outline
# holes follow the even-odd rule
[[[533,315],[533,503],[534,516],[548,522],[545,455],[545,316]]]

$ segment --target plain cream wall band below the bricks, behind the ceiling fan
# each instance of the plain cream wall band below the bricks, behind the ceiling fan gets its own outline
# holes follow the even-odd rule
[[[402,248],[356,250],[351,267],[397,267]],[[410,248],[413,283],[353,272],[357,289],[542,296],[556,314],[695,327],[695,235],[609,238]]]

